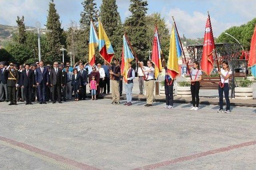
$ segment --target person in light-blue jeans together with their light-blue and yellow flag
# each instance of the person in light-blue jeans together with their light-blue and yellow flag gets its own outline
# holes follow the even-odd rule
[[[134,56],[128,46],[125,35],[123,36],[123,48],[122,48],[122,63],[121,63],[121,76],[123,76],[126,88],[126,103],[124,105],[132,105],[132,88],[133,79],[135,78],[135,71],[132,69],[131,61],[134,60]]]

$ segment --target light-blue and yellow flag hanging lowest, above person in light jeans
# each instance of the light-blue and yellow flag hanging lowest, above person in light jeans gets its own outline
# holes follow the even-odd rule
[[[122,63],[121,63],[121,75],[124,77],[124,81],[127,82],[128,77],[128,63],[134,60],[134,56],[128,46],[127,40],[123,35],[123,48],[122,48]]]

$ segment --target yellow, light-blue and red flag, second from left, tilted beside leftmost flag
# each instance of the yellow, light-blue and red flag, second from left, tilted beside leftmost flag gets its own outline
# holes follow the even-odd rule
[[[114,56],[114,50],[108,39],[108,36],[102,26],[101,21],[99,20],[99,51],[100,56],[106,60],[108,63],[111,63]]]

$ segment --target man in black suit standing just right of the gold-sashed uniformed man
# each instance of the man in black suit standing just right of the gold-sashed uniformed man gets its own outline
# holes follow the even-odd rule
[[[32,89],[35,82],[34,71],[30,69],[29,64],[25,65],[25,70],[20,73],[20,87],[24,89],[26,105],[32,104]]]

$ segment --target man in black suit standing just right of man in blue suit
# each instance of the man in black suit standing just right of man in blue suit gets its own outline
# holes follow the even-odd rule
[[[58,62],[54,62],[53,68],[51,70],[50,74],[50,84],[52,86],[52,103],[56,103],[56,91],[58,95],[58,102],[62,103],[60,101],[61,99],[61,86],[62,86],[62,69],[58,68]]]

